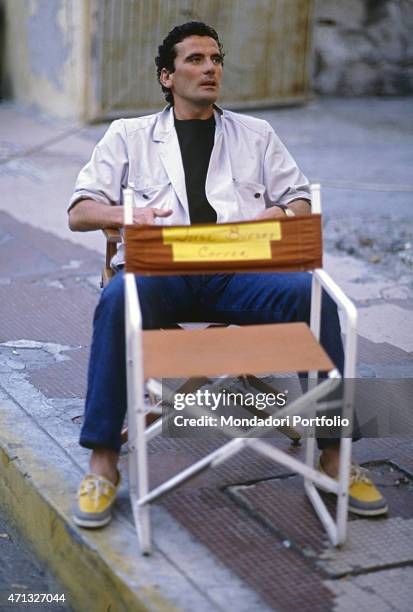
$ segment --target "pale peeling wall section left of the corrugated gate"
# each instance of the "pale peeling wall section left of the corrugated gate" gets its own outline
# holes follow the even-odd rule
[[[5,82],[17,101],[64,118],[86,112],[83,0],[5,0]]]

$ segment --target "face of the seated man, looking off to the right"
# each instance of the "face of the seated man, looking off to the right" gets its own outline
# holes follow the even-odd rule
[[[209,36],[188,36],[175,49],[175,71],[161,72],[161,83],[172,91],[175,106],[213,104],[222,78],[222,56],[215,40]]]

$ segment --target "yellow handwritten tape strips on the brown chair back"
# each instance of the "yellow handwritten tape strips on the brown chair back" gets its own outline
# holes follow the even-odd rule
[[[271,259],[271,241],[281,240],[281,225],[243,223],[215,227],[162,228],[173,261],[244,261]]]

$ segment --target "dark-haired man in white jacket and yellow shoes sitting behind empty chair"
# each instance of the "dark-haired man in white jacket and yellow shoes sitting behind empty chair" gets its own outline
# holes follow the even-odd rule
[[[270,125],[223,111],[215,102],[224,54],[211,27],[175,27],[159,47],[158,80],[169,105],[160,113],[114,121],[78,177],[69,207],[73,231],[120,228],[122,189],[134,192],[134,223],[224,223],[308,215],[309,184]],[[114,266],[122,266],[122,248]],[[143,328],[179,321],[237,325],[309,320],[311,275],[298,273],[137,277]],[[323,296],[321,344],[343,370],[336,306]],[[80,444],[92,449],[74,521],[109,522],[126,413],[124,286],[119,272],[94,317],[85,420]],[[338,442],[318,441],[320,470],[337,476]],[[379,491],[353,466],[352,512],[383,514]]]

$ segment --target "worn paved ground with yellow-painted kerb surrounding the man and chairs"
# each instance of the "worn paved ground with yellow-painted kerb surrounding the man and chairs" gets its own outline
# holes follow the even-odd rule
[[[363,377],[413,378],[411,109],[411,99],[330,99],[255,113],[310,180],[325,185],[326,267],[359,308]],[[103,241],[70,233],[65,208],[106,126],[70,125],[13,104],[0,106],[0,122],[0,503],[59,576],[72,607],[410,610],[411,436],[355,444],[390,512],[351,517],[340,551],[328,545],[300,479],[250,452],[153,507],[152,557],[138,552],[125,454],[113,522],[97,532],[74,526]],[[152,482],[212,445],[153,442]]]

